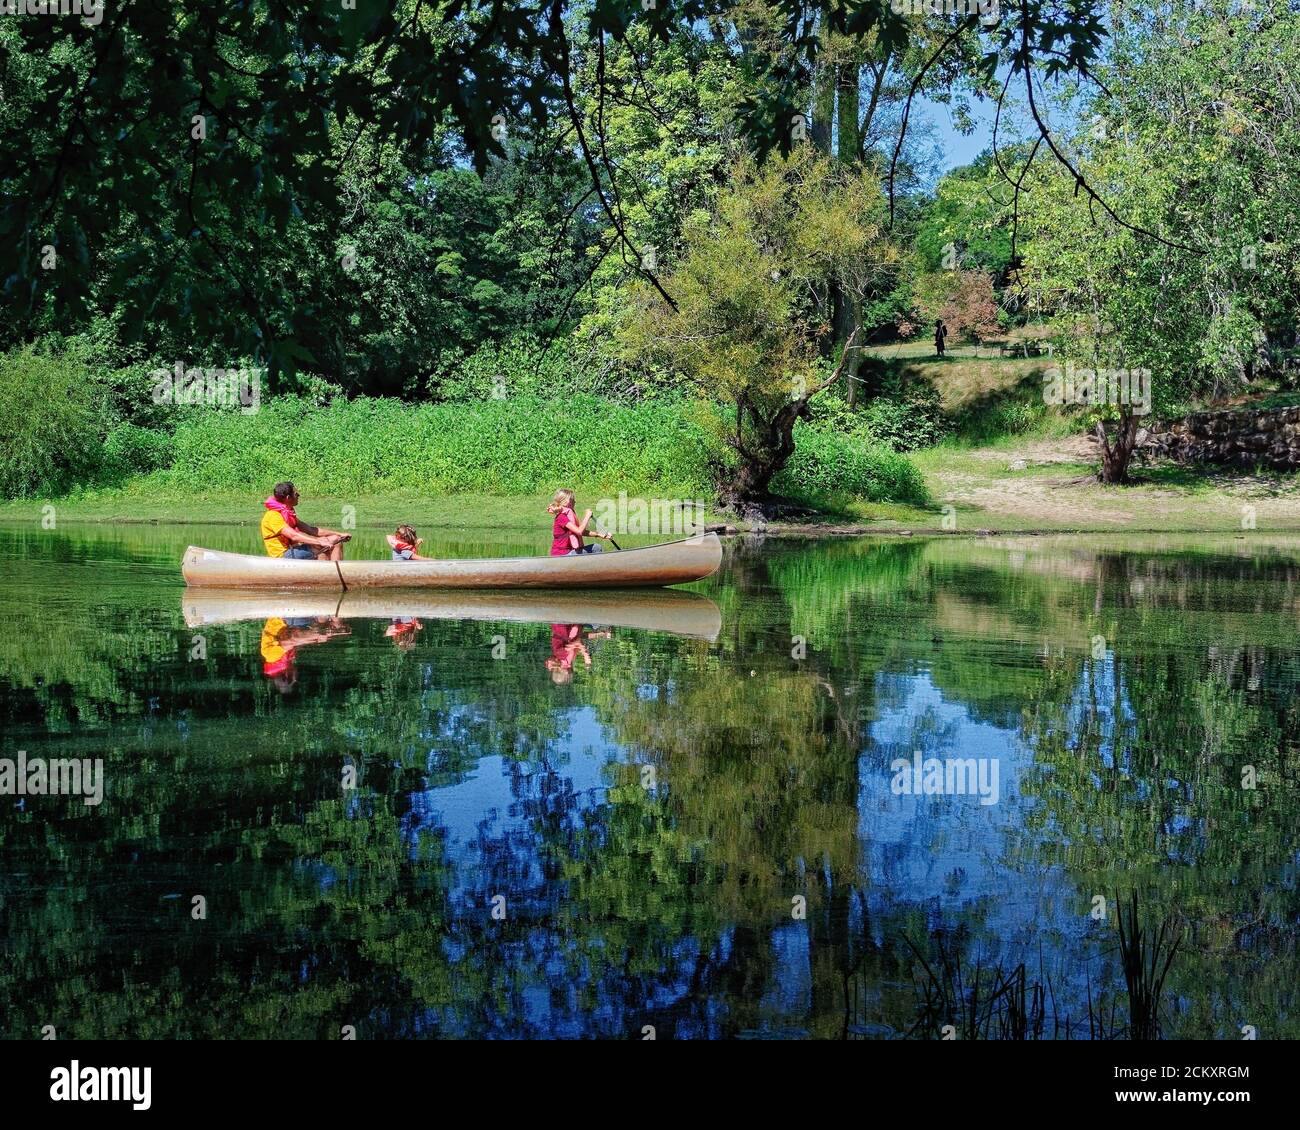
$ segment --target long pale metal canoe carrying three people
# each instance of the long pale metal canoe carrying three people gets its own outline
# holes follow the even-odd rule
[[[181,572],[187,585],[229,589],[634,589],[702,580],[716,572],[722,559],[716,533],[577,557],[428,562],[296,560],[191,545]]]

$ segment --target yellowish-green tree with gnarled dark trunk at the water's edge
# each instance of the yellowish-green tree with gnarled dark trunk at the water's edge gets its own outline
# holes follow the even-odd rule
[[[755,168],[741,161],[711,216],[692,217],[675,295],[634,289],[619,324],[629,365],[681,373],[706,402],[725,406],[715,434],[737,463],[728,501],[766,497],[794,454],[793,428],[831,385],[822,338],[831,296],[861,303],[897,252],[884,235],[875,178],[805,147]]]

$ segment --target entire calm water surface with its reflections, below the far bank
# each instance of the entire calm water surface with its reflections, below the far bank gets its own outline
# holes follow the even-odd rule
[[[185,590],[251,541],[0,528],[0,758],[104,771],[0,796],[0,1035],[1300,1036],[1300,542],[768,540],[601,631]]]

